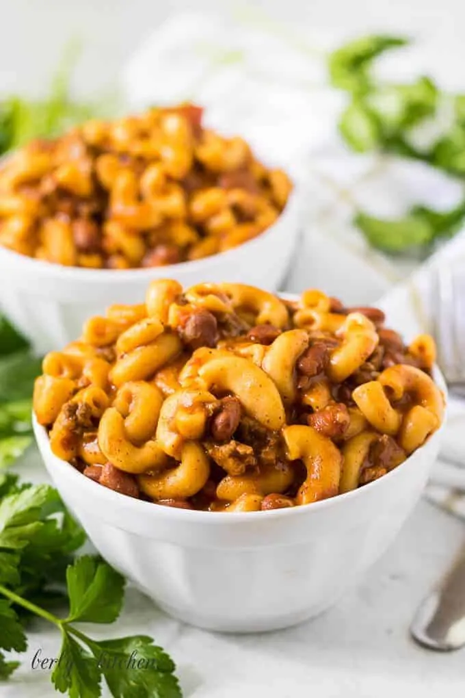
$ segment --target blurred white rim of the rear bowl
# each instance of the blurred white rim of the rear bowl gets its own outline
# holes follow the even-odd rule
[[[302,205],[303,195],[300,191],[300,187],[294,181],[294,188],[289,195],[287,204],[281,211],[280,216],[277,218],[275,223],[270,225],[266,230],[257,235],[257,237],[243,242],[237,247],[233,247],[225,252],[219,252],[215,255],[209,255],[208,257],[202,257],[198,260],[192,260],[190,262],[179,262],[178,264],[166,265],[163,269],[166,269],[166,276],[176,276],[177,274],[183,272],[185,269],[189,269],[190,272],[199,272],[199,274],[205,274],[206,270],[218,264],[218,258],[221,258],[222,262],[234,263],[234,256],[238,249],[247,248],[250,255],[253,257],[254,250],[260,251],[261,242],[270,235],[277,223],[285,222],[287,218],[290,218],[294,214],[294,209],[297,209]],[[283,237],[283,244],[286,244],[286,240]],[[85,269],[84,267],[63,267],[59,264],[54,264],[52,262],[46,262],[45,260],[38,260],[36,258],[28,257],[27,255],[22,255],[14,250],[10,250],[6,247],[0,245],[0,258],[3,256],[6,263],[17,265],[20,263],[23,267],[23,273],[27,274],[28,269],[33,270],[36,273],[45,274],[47,278],[54,279],[66,279],[74,281],[84,281],[88,283],[102,283],[107,286],[108,284],[119,284],[124,281],[143,281],[144,279],[148,281],[151,280],[153,276],[153,267],[138,268],[138,269]],[[156,267],[160,269],[160,267]]]

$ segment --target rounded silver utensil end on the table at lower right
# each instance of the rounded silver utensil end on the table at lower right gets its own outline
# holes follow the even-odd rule
[[[450,651],[465,646],[465,549],[422,601],[410,630],[429,649]]]

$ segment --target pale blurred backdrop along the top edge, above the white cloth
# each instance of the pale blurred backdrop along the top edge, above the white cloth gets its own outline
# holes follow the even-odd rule
[[[176,10],[257,10],[301,30],[404,31],[426,41],[427,72],[454,83],[464,74],[462,0],[0,0],[0,89],[40,91],[72,36],[84,40],[76,85],[114,82],[138,43]]]

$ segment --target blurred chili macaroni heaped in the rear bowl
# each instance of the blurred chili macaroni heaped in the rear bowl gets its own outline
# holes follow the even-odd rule
[[[18,150],[0,168],[0,245],[59,265],[130,269],[260,235],[291,182],[201,116],[194,105],[152,108]]]

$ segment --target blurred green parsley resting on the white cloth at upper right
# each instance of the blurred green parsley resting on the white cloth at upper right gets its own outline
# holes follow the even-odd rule
[[[397,36],[364,36],[330,54],[330,81],[349,95],[339,121],[340,134],[358,153],[377,151],[421,161],[465,183],[465,95],[449,94],[427,76],[398,84],[374,74],[376,59],[408,43]],[[435,140],[418,147],[416,131],[438,119],[444,107],[452,116],[450,124]],[[354,218],[367,241],[388,253],[428,249],[436,240],[454,235],[464,221],[465,186],[462,201],[448,211],[414,206],[398,220],[363,211]]]

